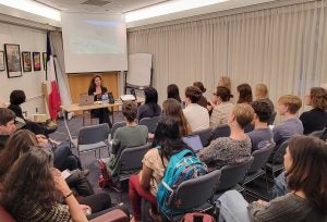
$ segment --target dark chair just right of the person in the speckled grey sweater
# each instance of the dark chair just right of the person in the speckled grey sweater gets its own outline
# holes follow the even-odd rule
[[[264,196],[257,194],[253,189],[247,188],[246,185],[252,183],[259,176],[265,175],[266,171],[264,169],[274,148],[275,148],[275,143],[267,141],[263,148],[252,152],[254,159],[243,182],[243,187],[245,188],[246,193],[251,193],[261,198],[265,198]],[[268,193],[269,188],[268,188],[267,175],[265,176],[265,178],[266,178],[266,187]]]

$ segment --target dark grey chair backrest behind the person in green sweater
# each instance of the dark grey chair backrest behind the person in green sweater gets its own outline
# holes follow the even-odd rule
[[[142,159],[152,147],[150,144],[141,147],[130,147],[122,150],[118,160],[119,171],[137,170],[142,168]]]

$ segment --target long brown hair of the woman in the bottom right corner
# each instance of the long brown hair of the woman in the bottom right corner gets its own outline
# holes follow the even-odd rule
[[[298,136],[290,140],[289,152],[289,188],[303,192],[311,206],[327,215],[327,145],[319,138]]]

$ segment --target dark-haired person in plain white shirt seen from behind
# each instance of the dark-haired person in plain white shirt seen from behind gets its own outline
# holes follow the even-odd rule
[[[183,110],[184,115],[191,126],[191,131],[201,131],[209,127],[209,113],[206,108],[197,104],[202,91],[195,86],[189,86],[185,88],[185,104]]]

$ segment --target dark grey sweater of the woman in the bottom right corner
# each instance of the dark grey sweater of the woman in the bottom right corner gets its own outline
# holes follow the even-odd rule
[[[261,205],[252,202],[247,207],[249,215],[253,222],[298,222],[298,221],[326,221],[310,206],[306,199],[289,193],[270,202]]]

